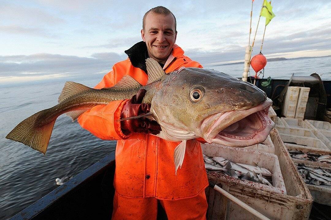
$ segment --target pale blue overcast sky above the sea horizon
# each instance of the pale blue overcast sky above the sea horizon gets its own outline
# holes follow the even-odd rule
[[[28,3],[27,3],[28,2]],[[208,67],[243,60],[250,0],[86,1],[30,0],[0,4],[0,84],[89,76],[111,70],[124,50],[141,41],[142,17],[163,5],[177,19],[177,41]],[[253,5],[252,36],[262,0]],[[274,0],[266,28],[267,58],[331,55],[331,1]],[[260,50],[261,17],[253,55]]]

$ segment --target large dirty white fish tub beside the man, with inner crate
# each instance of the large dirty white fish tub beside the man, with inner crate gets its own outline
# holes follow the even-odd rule
[[[245,148],[202,144],[207,156],[223,157],[272,171],[273,187],[207,172],[208,178],[270,219],[308,219],[312,197],[276,129],[262,143]],[[206,189],[207,219],[258,219],[212,188]]]

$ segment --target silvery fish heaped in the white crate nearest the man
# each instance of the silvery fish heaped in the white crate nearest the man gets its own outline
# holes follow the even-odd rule
[[[223,157],[203,156],[206,170],[222,173],[241,180],[250,180],[272,186],[272,173],[268,169],[248,164],[234,163]]]

